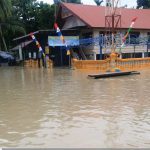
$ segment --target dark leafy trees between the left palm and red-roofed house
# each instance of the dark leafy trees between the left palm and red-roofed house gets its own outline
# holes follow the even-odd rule
[[[14,13],[27,31],[50,29],[54,22],[54,6],[37,0],[12,0]]]

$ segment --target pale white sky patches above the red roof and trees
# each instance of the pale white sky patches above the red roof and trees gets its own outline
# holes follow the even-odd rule
[[[44,1],[44,2],[47,2],[49,4],[53,4],[53,0],[39,0],[39,1]],[[81,1],[84,4],[95,5],[94,0],[81,0]],[[122,6],[127,4],[129,8],[136,7],[136,0],[120,0],[120,1],[121,1]]]

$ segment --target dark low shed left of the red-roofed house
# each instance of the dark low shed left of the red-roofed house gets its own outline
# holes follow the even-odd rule
[[[33,34],[39,41],[43,51],[53,61],[54,66],[69,66],[70,58],[66,55],[66,49],[62,46],[62,42],[59,41],[60,38],[56,35],[54,29],[39,30],[33,32]],[[75,38],[77,37],[75,35],[78,35],[78,32],[74,29],[62,30],[62,34],[67,37]],[[34,40],[32,40],[30,34],[17,37],[13,39],[13,41],[17,46],[12,48],[11,51],[16,54],[18,60],[39,60],[39,49]]]

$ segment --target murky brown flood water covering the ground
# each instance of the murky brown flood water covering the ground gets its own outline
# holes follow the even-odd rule
[[[1,67],[0,147],[150,147],[150,71],[94,80]]]

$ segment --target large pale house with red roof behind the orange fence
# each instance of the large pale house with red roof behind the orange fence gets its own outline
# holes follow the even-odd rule
[[[105,14],[107,8],[104,6],[92,6],[83,4],[60,3],[57,14],[57,22],[62,29],[77,29],[79,30],[80,39],[96,38],[101,34],[105,34]],[[120,40],[127,32],[131,24],[131,20],[138,17],[133,30],[129,36],[134,39],[142,39],[137,42],[132,40],[128,46],[121,49],[121,57],[145,57],[149,56],[149,46],[146,45],[147,39],[150,36],[150,10],[148,9],[127,9],[119,8],[121,16],[120,26],[117,28],[117,33],[120,35]],[[141,42],[143,41],[144,42]],[[98,59],[100,48],[98,44],[91,44],[82,47],[88,59]],[[110,48],[103,47],[103,54],[109,53]],[[119,49],[118,49],[119,51]]]

